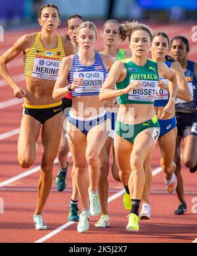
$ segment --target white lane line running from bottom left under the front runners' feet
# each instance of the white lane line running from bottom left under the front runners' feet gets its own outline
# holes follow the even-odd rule
[[[159,171],[160,170],[160,171]],[[157,168],[156,170],[154,170],[152,172],[153,176],[156,176],[158,174],[160,174],[160,172],[162,172],[162,168]],[[121,197],[121,195],[123,195],[125,193],[125,189],[121,189],[121,191],[117,192],[116,194],[112,195],[111,197],[109,197],[108,199],[108,203],[111,203],[112,201],[118,199],[118,197]],[[49,240],[50,238],[53,238],[53,236],[56,236],[56,234],[62,232],[63,230],[65,230],[66,228],[72,226],[75,222],[67,222],[66,224],[64,224],[63,226],[60,226],[60,228],[57,228],[56,230],[54,230],[53,232],[49,233],[47,236],[44,236],[43,238],[35,241],[34,243],[43,243],[44,241]]]

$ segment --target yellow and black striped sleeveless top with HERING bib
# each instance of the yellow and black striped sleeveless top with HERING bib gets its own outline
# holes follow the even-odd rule
[[[56,49],[45,49],[41,44],[41,32],[37,33],[33,48],[24,55],[24,73],[26,77],[57,80],[60,63],[65,57],[61,36],[57,36]]]

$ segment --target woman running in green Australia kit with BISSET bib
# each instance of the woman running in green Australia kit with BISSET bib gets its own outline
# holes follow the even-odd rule
[[[164,119],[175,110],[177,79],[164,63],[147,59],[152,42],[152,33],[147,26],[133,22],[123,28],[125,36],[129,36],[132,57],[112,66],[100,92],[100,100],[118,97],[120,104],[115,135],[116,161],[125,190],[131,194],[132,209],[127,230],[137,232],[145,184],[144,163],[160,135],[154,110],[158,81],[162,76],[169,80],[170,98],[164,108]],[[116,90],[113,89],[115,83]]]

